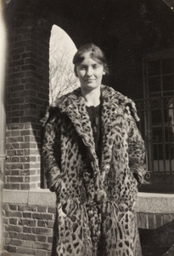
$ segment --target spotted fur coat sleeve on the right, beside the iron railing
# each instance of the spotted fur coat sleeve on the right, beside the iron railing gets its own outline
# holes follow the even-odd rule
[[[146,173],[145,146],[143,138],[138,130],[135,118],[129,114],[128,118],[128,154],[129,167],[138,183],[143,183]]]

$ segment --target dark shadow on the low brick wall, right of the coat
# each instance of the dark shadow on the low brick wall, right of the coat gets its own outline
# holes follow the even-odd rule
[[[174,245],[174,220],[155,230],[139,229],[143,256],[173,256],[166,253]],[[165,254],[165,255],[164,255]]]

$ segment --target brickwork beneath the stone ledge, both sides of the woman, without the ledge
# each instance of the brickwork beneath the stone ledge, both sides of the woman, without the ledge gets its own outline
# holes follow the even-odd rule
[[[55,207],[3,203],[3,244],[9,255],[51,255]],[[162,256],[172,246],[174,214],[138,212],[143,256]],[[153,253],[153,254],[152,254]]]

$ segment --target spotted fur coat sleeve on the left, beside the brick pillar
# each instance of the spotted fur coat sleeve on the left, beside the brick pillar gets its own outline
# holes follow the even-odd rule
[[[48,189],[59,191],[61,184],[60,166],[60,125],[55,113],[49,115],[44,124],[44,136],[42,143],[42,160],[45,166],[45,175]]]

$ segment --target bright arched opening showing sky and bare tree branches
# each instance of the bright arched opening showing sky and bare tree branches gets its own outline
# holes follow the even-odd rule
[[[53,25],[49,44],[49,102],[79,86],[72,63],[76,45],[59,26]]]

